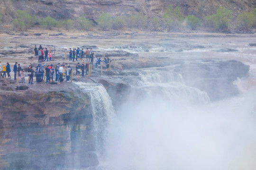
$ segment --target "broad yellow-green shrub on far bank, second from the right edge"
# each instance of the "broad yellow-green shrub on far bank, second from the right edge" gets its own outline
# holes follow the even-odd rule
[[[206,16],[204,25],[206,27],[212,27],[218,30],[227,30],[230,26],[232,21],[232,11],[224,8],[219,7],[216,14]]]

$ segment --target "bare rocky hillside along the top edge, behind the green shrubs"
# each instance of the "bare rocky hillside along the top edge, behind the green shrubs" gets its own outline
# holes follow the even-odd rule
[[[9,22],[17,9],[31,10],[40,17],[75,19],[86,14],[95,21],[101,13],[113,16],[142,12],[149,17],[162,17],[169,5],[181,7],[184,15],[203,17],[225,7],[237,16],[242,11],[256,8],[254,0],[1,0],[0,13]]]

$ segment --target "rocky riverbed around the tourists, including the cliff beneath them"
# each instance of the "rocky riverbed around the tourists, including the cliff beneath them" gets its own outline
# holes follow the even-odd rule
[[[0,37],[1,64],[9,62],[11,68],[16,61],[23,68],[37,66],[33,48],[39,44],[51,47],[54,54],[46,65],[64,62],[74,69],[77,62],[65,60],[65,51],[76,47],[91,47],[96,56],[115,59],[112,71],[103,64],[102,76],[100,69],[93,68],[91,77],[74,76],[73,81],[102,84],[116,109],[131,91],[138,94],[135,99],[146,93],[134,88],[145,75],[154,78],[154,74],[174,72],[182,77],[175,80],[218,101],[238,95],[234,81],[255,71],[255,62],[247,58],[255,55],[255,47],[249,45],[255,35],[31,32]],[[13,78],[0,78],[0,103],[0,167],[4,170],[72,169],[99,163],[90,96],[78,85],[16,85]]]

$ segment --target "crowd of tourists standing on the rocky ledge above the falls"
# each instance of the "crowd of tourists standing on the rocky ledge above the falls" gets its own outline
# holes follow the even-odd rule
[[[69,66],[69,64],[58,63],[56,66],[54,66],[53,64],[46,65],[46,63],[43,63],[44,61],[48,61],[48,54],[49,60],[51,61],[52,53],[51,51],[48,51],[47,48],[45,48],[45,51],[43,51],[42,45],[40,45],[38,49],[35,45],[34,52],[35,56],[38,56],[38,66],[33,67],[30,65],[27,69],[23,69],[20,64],[18,64],[18,62],[15,62],[13,66],[14,80],[17,80],[18,74],[18,82],[22,84],[25,83],[26,70],[29,85],[33,84],[34,76],[36,77],[36,81],[38,83],[42,82],[44,77],[46,77],[46,83],[57,82],[60,84],[61,82],[64,82],[65,79],[65,82],[70,82],[72,68]],[[86,59],[86,62],[83,61],[83,59]],[[86,48],[84,52],[83,49],[80,50],[79,47],[77,49],[74,48],[73,50],[71,50],[71,48],[69,49],[69,60],[72,60],[73,62],[81,62],[78,62],[74,68],[77,78],[80,77],[80,74],[82,76],[88,76],[90,71],[89,69],[93,67],[93,61],[95,61],[94,69],[98,69],[98,67],[101,66],[101,62],[104,62],[106,64],[107,70],[109,69],[111,62],[109,57],[106,57],[103,60],[101,60],[100,57],[96,57],[94,59],[94,51],[92,51],[92,49],[88,50],[88,48]],[[0,77],[6,78],[7,73],[8,78],[11,78],[10,72],[11,67],[9,63],[7,62],[6,65],[2,66],[0,61]]]

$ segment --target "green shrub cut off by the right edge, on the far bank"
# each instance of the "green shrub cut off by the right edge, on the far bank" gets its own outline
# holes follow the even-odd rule
[[[241,29],[250,29],[255,20],[256,16],[254,16],[252,12],[242,12],[237,17],[237,26]]]

